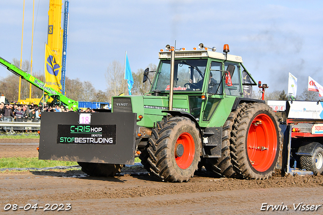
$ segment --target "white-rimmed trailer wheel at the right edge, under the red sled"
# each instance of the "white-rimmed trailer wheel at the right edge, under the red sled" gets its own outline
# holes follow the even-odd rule
[[[312,156],[301,156],[300,165],[302,169],[312,171],[315,175],[323,174],[323,148],[315,148]]]

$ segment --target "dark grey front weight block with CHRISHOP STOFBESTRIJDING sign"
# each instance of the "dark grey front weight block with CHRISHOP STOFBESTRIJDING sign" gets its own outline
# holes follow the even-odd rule
[[[39,159],[134,164],[135,113],[41,114]]]

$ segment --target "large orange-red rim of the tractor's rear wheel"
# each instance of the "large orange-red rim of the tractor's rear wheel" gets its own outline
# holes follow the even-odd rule
[[[259,114],[252,121],[247,136],[247,152],[252,167],[258,172],[271,168],[277,153],[277,133],[273,120]]]

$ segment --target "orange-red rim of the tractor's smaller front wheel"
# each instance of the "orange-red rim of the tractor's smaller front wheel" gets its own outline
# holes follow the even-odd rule
[[[194,139],[192,135],[185,132],[178,137],[175,145],[177,144],[183,145],[184,153],[180,157],[177,156],[175,153],[176,164],[181,169],[187,169],[189,166],[191,166],[194,159],[194,154],[195,154]]]

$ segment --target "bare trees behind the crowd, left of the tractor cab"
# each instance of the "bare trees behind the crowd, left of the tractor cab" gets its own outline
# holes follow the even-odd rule
[[[12,64],[20,68],[20,61],[13,59]],[[149,71],[155,71],[157,66],[149,64]],[[23,71],[30,74],[30,62],[25,60],[22,62]],[[134,84],[132,87],[133,95],[143,95],[149,91],[149,82],[142,83],[144,69],[138,69],[137,73],[132,73]],[[32,76],[39,80],[44,79],[43,72],[32,72]],[[153,75],[150,74],[150,79]],[[10,74],[0,80],[0,94],[5,95],[9,102],[18,101],[19,76]],[[97,101],[111,102],[111,97],[125,93],[128,95],[127,80],[124,79],[124,66],[119,61],[113,61],[109,64],[105,71],[106,89],[96,90],[90,81],[81,81],[79,78],[70,79],[65,77],[65,93],[66,96],[77,101]],[[20,99],[29,98],[30,83],[21,80]],[[35,86],[31,86],[31,98],[40,98],[43,91]]]

